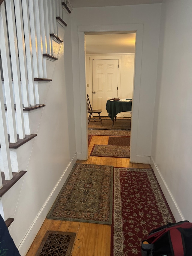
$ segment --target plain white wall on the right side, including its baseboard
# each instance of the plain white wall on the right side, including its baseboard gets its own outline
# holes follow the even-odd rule
[[[192,221],[192,2],[164,1],[152,167],[176,221]]]

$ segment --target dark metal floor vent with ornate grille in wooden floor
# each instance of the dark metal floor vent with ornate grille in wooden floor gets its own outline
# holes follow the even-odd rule
[[[48,230],[35,256],[70,256],[76,233]]]

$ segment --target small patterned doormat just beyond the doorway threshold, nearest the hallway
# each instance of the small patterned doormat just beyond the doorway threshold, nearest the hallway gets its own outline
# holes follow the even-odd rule
[[[130,146],[95,144],[90,156],[130,158]]]

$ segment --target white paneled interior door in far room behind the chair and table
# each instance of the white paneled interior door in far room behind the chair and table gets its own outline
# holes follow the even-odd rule
[[[119,59],[92,60],[93,109],[101,109],[101,116],[108,116],[105,109],[109,98],[117,98]],[[95,115],[96,116],[96,115]]]

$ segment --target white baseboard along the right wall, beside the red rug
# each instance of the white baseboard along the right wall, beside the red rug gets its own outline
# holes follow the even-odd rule
[[[161,187],[161,190],[163,191],[163,194],[167,200],[167,203],[173,213],[173,216],[176,220],[176,222],[178,221],[183,221],[184,217],[182,215],[181,210],[179,209],[179,206],[177,205],[175,199],[173,198],[173,195],[171,194],[170,189],[168,188],[163,176],[161,175],[160,170],[158,169],[158,166],[155,164],[154,159],[151,157],[151,167],[155,173],[155,176],[159,182],[159,185]]]

